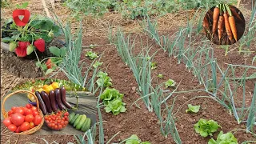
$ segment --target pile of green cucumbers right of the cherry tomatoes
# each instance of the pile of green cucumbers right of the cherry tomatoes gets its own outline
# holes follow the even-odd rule
[[[75,114],[72,112],[69,116],[70,125],[73,125],[75,129],[86,132],[90,129],[90,118],[86,117],[86,114]]]

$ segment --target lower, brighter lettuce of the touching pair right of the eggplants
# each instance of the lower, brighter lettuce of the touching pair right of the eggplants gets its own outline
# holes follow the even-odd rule
[[[118,115],[126,111],[126,103],[122,102],[122,98],[116,98],[106,104],[104,110],[106,113],[112,112],[114,115]]]

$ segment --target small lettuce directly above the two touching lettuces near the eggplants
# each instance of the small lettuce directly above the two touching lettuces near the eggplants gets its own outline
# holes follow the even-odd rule
[[[104,86],[104,87],[109,87],[112,86],[112,79],[107,76],[107,73],[104,73],[102,71],[98,72],[98,80],[96,81],[98,86]]]

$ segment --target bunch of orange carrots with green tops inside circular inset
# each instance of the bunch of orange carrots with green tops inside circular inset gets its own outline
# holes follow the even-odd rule
[[[244,22],[244,20],[242,20],[234,6],[219,4],[218,6],[215,6],[213,13],[212,11],[209,11],[206,15],[208,15],[208,18],[205,17],[203,19],[203,27],[206,34],[212,34],[212,38],[214,38],[215,35],[218,35],[220,44],[222,38],[225,38],[225,35],[227,36],[226,43],[228,43],[228,40],[232,42],[233,39],[235,42],[238,41],[238,30],[235,19],[238,18],[242,22]],[[210,30],[210,19],[212,19],[212,30]]]

